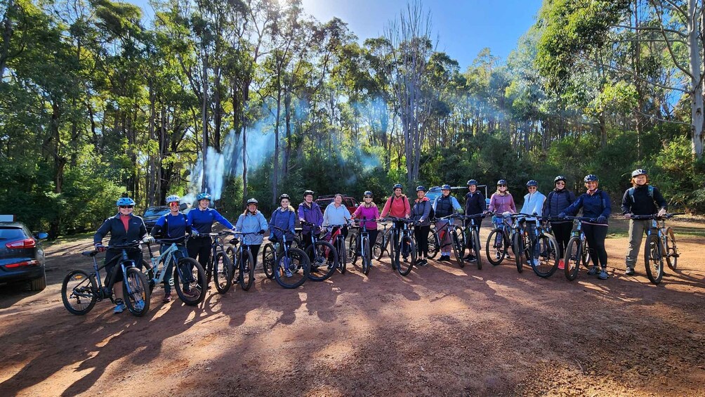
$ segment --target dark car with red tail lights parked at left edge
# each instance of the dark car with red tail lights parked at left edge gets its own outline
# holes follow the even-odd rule
[[[47,287],[44,250],[39,240],[47,233],[33,235],[20,222],[0,222],[0,283],[29,281],[32,291]]]

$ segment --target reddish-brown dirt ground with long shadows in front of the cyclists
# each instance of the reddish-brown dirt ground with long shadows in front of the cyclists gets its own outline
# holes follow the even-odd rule
[[[250,291],[213,288],[200,307],[163,304],[157,288],[142,318],[106,302],[69,314],[61,280],[90,268],[90,240],[55,244],[46,290],[0,286],[0,396],[703,396],[701,236],[678,236],[679,270],[659,286],[643,262],[623,274],[620,236],[606,281],[508,261],[401,277],[385,257],[369,277],[296,290],[258,272]]]

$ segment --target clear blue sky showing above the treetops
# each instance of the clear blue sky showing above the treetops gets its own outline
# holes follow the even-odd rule
[[[389,21],[406,8],[407,0],[302,0],[307,13],[325,22],[337,16],[362,42],[379,37]],[[151,14],[147,0],[130,0]],[[465,71],[484,47],[505,61],[517,39],[535,22],[541,0],[423,1],[431,11],[438,50],[446,51]]]

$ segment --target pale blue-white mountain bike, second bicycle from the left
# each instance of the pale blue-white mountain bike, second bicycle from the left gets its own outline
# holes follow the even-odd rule
[[[170,276],[168,283],[175,287],[176,295],[178,295],[179,299],[185,305],[195,306],[205,298],[204,291],[206,291],[208,286],[207,276],[196,259],[188,257],[188,255],[179,250],[176,242],[180,240],[183,241],[183,237],[155,239],[155,243],[168,245],[166,250],[159,252],[159,257],[154,257],[152,245],[147,243],[149,262],[146,263],[146,273],[147,279],[149,279],[149,292],[151,293],[157,284],[163,283],[165,276]],[[161,264],[161,267],[159,267],[159,264]],[[173,269],[172,274],[167,274],[171,272],[169,269]],[[195,276],[193,274],[194,270],[196,272]],[[184,284],[188,286],[185,291]]]

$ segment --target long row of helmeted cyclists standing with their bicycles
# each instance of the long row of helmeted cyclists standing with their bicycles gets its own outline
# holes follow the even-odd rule
[[[583,181],[586,191],[577,197],[575,193],[566,188],[564,176],[556,176],[553,180],[554,188],[548,195],[539,192],[537,181],[528,181],[526,183],[528,192],[524,195],[524,204],[520,213],[551,218],[551,228],[558,242],[560,257],[563,257],[572,231],[572,221],[563,218],[568,215],[573,216],[582,209],[582,216],[586,218],[583,221],[583,232],[591,250],[592,260],[592,267],[588,274],[596,274],[599,279],[607,279],[607,252],[604,241],[607,236],[608,218],[612,214],[610,197],[599,188],[599,178],[594,174],[585,176]],[[663,216],[666,214],[666,200],[663,199],[658,188],[649,184],[649,176],[644,169],[632,172],[631,183],[632,187],[625,191],[622,199],[621,209],[625,218],[630,219],[632,215],[658,214],[658,216]],[[350,214],[348,208],[343,205],[343,195],[341,194],[335,195],[333,202],[322,211],[321,207],[314,202],[312,190],[304,192],[303,201],[299,204],[298,211],[291,206],[291,197],[283,194],[278,197],[279,207],[274,209],[269,222],[257,209],[257,200],[251,198],[247,200],[245,211],[240,214],[234,226],[216,209],[210,207],[212,197],[208,193],[197,195],[198,207],[192,209],[188,214],[179,211],[180,197],[170,195],[166,197],[166,204],[168,204],[170,212],[159,218],[151,234],[147,233],[145,223],[140,216],[133,214],[135,201],[130,197],[121,197],[117,202],[118,214],[106,219],[104,224],[100,226],[94,235],[94,245],[97,250],[105,250],[102,240],[108,234],[110,234],[109,245],[125,241],[154,240],[153,236],[159,236],[159,238],[173,239],[182,250],[183,255],[197,259],[202,267],[207,269],[212,244],[209,233],[211,233],[216,221],[225,228],[244,233],[240,243],[249,246],[253,257],[256,258],[267,229],[269,229],[269,241],[274,243],[278,249],[281,249],[281,245],[278,243],[285,240],[287,244],[293,242],[297,214],[302,225],[303,243],[306,248],[312,243],[312,233],[318,236],[319,233],[324,232],[328,239],[331,239],[336,233],[343,233],[343,236],[346,237],[347,226],[352,219],[364,222],[369,239],[376,241],[377,233],[379,233],[377,222],[390,216],[393,218],[394,228],[401,228],[403,219],[415,221],[414,235],[418,251],[416,263],[420,266],[426,266],[428,264],[428,237],[431,221],[435,221],[436,230],[439,231],[441,240],[439,260],[448,261],[450,260],[451,248],[450,233],[443,233],[443,231],[448,231],[453,222],[450,215],[467,214],[465,216],[466,226],[474,224],[479,228],[482,226],[485,214],[493,214],[492,222],[499,226],[505,217],[517,213],[514,198],[507,188],[507,181],[504,179],[497,181],[497,190],[491,195],[489,205],[486,205],[485,197],[477,189],[477,185],[478,183],[474,179],[467,181],[468,193],[465,194],[465,207],[463,208],[458,200],[450,195],[450,185],[442,185],[441,195],[433,201],[429,200],[426,195],[427,188],[419,185],[416,188],[417,197],[413,202],[410,202],[403,194],[403,186],[397,183],[393,186],[393,194],[386,199],[381,212],[373,201],[372,192],[368,190],[364,192],[363,201],[353,214]],[[535,219],[527,218],[527,220]],[[634,267],[637,255],[639,255],[639,246],[642,243],[644,232],[649,226],[649,221],[630,219],[629,248],[625,259],[627,275],[635,274]],[[532,227],[531,222],[529,222],[529,227]],[[190,238],[184,245],[187,234],[190,235]],[[393,243],[398,242],[394,241]],[[359,243],[357,247],[360,247]],[[402,252],[402,254],[403,260],[406,261],[408,252]],[[117,261],[114,260],[116,255],[118,255],[117,252],[106,253],[106,273],[108,275],[116,266]],[[130,251],[128,255],[135,263],[141,263],[142,252],[140,250]],[[479,252],[470,250],[464,259],[472,262],[476,255],[479,255]],[[116,271],[121,271],[121,269],[118,267]],[[286,276],[291,276],[291,274],[288,273]],[[122,279],[121,274],[118,274],[118,280],[120,279]],[[115,283],[115,313],[125,310],[122,291],[122,283]],[[164,302],[166,303],[171,300],[171,287],[168,281],[164,281],[164,293]],[[184,290],[184,293],[190,294],[188,288]]]

